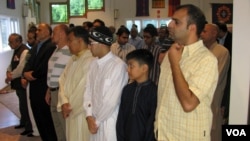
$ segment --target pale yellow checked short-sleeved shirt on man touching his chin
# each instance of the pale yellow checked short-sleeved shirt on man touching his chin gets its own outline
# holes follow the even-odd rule
[[[168,54],[161,64],[155,134],[162,141],[210,141],[211,103],[218,81],[215,56],[200,40],[184,47],[180,67],[199,105],[185,112],[176,95]]]

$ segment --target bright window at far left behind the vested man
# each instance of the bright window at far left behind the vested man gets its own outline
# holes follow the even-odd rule
[[[10,50],[8,38],[11,33],[20,33],[17,18],[0,15],[0,52]]]

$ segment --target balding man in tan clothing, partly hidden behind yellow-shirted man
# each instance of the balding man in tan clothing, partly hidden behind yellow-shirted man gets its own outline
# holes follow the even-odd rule
[[[230,65],[230,53],[227,48],[217,43],[216,37],[218,27],[215,24],[206,24],[201,32],[201,39],[204,45],[215,55],[218,60],[219,80],[214,92],[212,101],[213,123],[211,130],[211,141],[221,141],[222,134],[222,115],[221,101],[224,95],[225,86],[227,83],[227,74]]]

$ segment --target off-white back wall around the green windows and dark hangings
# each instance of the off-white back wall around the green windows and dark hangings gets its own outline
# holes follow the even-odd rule
[[[50,2],[65,2],[66,0],[40,0],[41,4],[41,21],[50,23],[49,17],[49,3]],[[212,7],[211,3],[232,3],[233,0],[182,0],[181,4],[194,4],[200,7],[207,17],[207,21],[211,22]],[[46,9],[46,10],[45,10]],[[114,19],[114,9],[119,10],[118,19]],[[114,25],[119,27],[124,25],[126,19],[131,18],[157,18],[157,10],[160,10],[160,18],[168,17],[168,0],[165,0],[165,8],[152,8],[152,1],[149,0],[149,17],[136,17],[136,1],[135,0],[105,0],[105,12],[94,11],[88,12],[87,18],[71,18],[70,23],[75,25],[82,25],[84,21],[93,21],[96,18],[102,19],[107,26]]]

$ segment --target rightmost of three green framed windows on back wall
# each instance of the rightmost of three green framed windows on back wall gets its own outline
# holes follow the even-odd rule
[[[104,11],[105,0],[88,0],[88,11]]]

